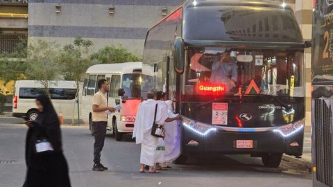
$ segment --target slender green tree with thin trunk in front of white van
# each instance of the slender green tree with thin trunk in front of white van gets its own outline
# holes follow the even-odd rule
[[[89,51],[92,47],[92,41],[76,37],[74,44],[68,44],[62,48],[59,55],[59,62],[63,68],[63,74],[66,80],[74,80],[76,82],[76,98],[78,100],[78,91],[85,79],[85,71],[89,66],[92,66],[92,61],[89,59]],[[75,103],[74,103],[75,107]],[[78,102],[78,123],[80,123]],[[74,123],[74,109],[72,123]]]

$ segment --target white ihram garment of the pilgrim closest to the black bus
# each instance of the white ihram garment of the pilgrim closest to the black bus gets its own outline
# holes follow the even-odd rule
[[[168,107],[169,118],[174,118],[178,116],[178,114],[174,114],[172,111],[172,101],[167,100],[166,103]],[[180,154],[180,129],[178,127],[178,121],[171,121],[165,123],[164,145],[164,162],[169,162],[177,159]]]

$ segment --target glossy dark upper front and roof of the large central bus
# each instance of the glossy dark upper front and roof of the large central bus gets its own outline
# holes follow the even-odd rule
[[[182,15],[178,16],[178,8],[182,8]],[[152,33],[156,33],[169,22],[176,21],[175,17],[182,19],[182,39],[187,46],[261,47],[264,43],[273,46],[304,43],[291,6],[280,1],[188,0],[148,32],[154,30]],[[155,38],[161,37],[159,33],[163,32],[157,32]]]

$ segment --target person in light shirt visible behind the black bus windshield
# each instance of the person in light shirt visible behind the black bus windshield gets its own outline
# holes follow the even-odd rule
[[[231,54],[232,53],[232,56]],[[235,87],[237,82],[237,60],[234,52],[230,50],[224,51],[212,64],[212,75],[210,82],[213,84],[225,84],[227,90]]]

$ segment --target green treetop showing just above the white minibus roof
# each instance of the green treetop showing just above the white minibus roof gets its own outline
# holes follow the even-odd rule
[[[105,46],[93,53],[90,58],[91,60],[97,60],[101,64],[141,61],[137,55],[122,46]]]

